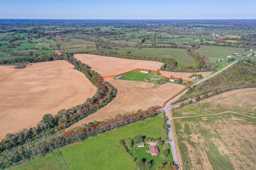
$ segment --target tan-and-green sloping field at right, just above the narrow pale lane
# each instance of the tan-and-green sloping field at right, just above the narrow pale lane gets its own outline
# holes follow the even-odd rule
[[[174,117],[236,111],[256,117],[256,88],[232,90],[204,99],[198,103],[176,108]]]

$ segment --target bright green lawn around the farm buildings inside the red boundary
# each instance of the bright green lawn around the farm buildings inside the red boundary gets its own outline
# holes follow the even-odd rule
[[[122,80],[134,80],[134,81],[140,81],[140,82],[146,82],[146,78],[163,78],[161,76],[158,76],[157,72],[150,71],[149,73],[143,73],[140,72],[141,70],[135,70],[131,72],[127,72],[125,74],[122,74],[121,79]]]

